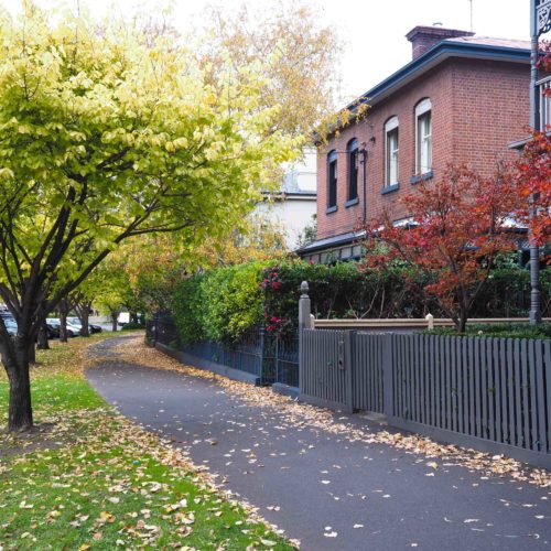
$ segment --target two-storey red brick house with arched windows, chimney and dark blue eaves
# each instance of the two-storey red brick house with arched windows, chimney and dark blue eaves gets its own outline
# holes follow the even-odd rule
[[[317,154],[317,239],[298,252],[314,262],[358,258],[357,228],[400,196],[435,181],[447,163],[490,175],[515,155],[529,123],[530,43],[439,26],[407,35],[413,58],[352,104],[367,117]]]

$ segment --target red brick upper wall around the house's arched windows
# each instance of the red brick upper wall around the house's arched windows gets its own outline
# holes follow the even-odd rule
[[[429,97],[432,104],[432,164],[434,180],[449,162],[466,163],[489,175],[498,159],[514,155],[507,145],[522,138],[529,116],[529,67],[521,64],[450,60],[408,84],[368,110],[367,119],[344,129],[320,148],[317,155],[317,238],[356,229],[363,218],[363,166],[358,171],[359,203],[346,208],[346,144],[352,138],[367,143],[367,218],[387,206],[395,218],[408,215],[400,197],[414,190],[415,105]],[[385,179],[385,122],[399,118],[399,183],[396,192],[381,195]],[[371,138],[375,137],[375,142]],[[360,145],[361,148],[361,145]],[[338,153],[337,210],[326,214],[327,153]]]

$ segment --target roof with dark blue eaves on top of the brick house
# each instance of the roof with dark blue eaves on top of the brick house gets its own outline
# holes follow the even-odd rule
[[[445,39],[347,106],[355,111],[361,104],[376,105],[399,88],[450,57],[467,57],[512,63],[530,63],[530,42],[490,36]]]

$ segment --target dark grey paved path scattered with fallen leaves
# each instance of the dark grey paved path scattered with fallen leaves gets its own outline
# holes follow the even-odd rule
[[[120,338],[96,352],[114,354]],[[433,471],[391,446],[291,425],[213,380],[112,359],[86,372],[100,395],[174,437],[301,549],[551,549],[551,488],[460,466]]]

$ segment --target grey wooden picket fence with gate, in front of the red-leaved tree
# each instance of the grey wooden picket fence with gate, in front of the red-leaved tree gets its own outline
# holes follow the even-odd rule
[[[300,317],[302,400],[551,468],[551,341],[313,329]]]

